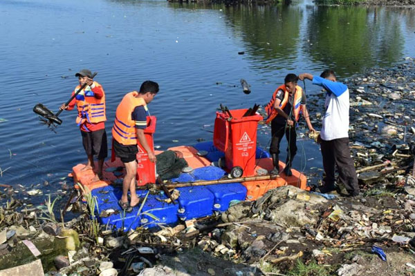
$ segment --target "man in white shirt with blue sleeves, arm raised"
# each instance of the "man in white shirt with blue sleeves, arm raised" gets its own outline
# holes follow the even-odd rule
[[[350,196],[359,195],[358,177],[351,159],[349,148],[349,89],[344,83],[336,81],[332,70],[324,70],[320,77],[304,73],[299,79],[309,79],[313,84],[326,90],[324,108],[326,113],[322,121],[320,145],[323,167],[326,177],[320,192],[335,190],[335,166],[338,168],[339,180],[344,184]]]

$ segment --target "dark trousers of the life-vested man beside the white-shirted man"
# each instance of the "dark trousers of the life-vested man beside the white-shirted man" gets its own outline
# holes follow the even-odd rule
[[[279,144],[281,143],[284,133],[288,141],[287,159],[293,161],[293,158],[297,153],[297,133],[295,132],[295,127],[286,128],[285,125],[275,124],[274,121],[271,122],[271,135],[273,136],[271,139],[270,154],[279,154]]]

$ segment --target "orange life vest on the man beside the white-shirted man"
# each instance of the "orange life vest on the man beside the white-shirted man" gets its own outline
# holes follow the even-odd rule
[[[279,103],[279,108],[284,109],[286,104],[288,103],[288,96],[289,93],[286,90],[285,84],[282,86],[279,86],[274,93],[273,97],[271,98],[270,102],[265,106],[265,110],[267,112],[268,118],[266,119],[266,124],[270,123],[270,121],[273,121],[275,117],[277,117],[278,112],[274,108],[275,99],[277,97],[277,92],[279,90],[284,91],[284,99],[282,99],[281,103]],[[293,103],[293,112],[295,121],[298,121],[299,119],[299,113],[301,112],[301,99],[302,99],[302,88],[299,86],[295,86],[295,94],[294,94],[294,103]]]

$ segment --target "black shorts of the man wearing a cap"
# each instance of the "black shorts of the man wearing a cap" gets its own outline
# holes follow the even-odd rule
[[[104,129],[92,132],[81,130],[81,135],[86,155],[97,155],[98,159],[108,156],[107,132]]]

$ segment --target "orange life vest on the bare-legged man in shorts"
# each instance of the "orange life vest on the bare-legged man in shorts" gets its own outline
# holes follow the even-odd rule
[[[122,98],[116,111],[116,120],[114,121],[112,135],[118,143],[129,146],[137,144],[136,121],[131,119],[131,113],[137,106],[144,106],[147,116],[149,110],[147,104],[142,98],[137,98],[137,91],[129,92]]]

